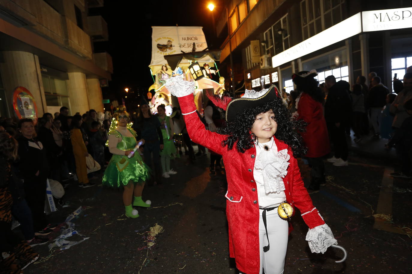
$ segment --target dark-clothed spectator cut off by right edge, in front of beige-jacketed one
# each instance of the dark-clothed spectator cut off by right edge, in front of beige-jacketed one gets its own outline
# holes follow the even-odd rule
[[[412,115],[412,99],[405,102],[403,105],[405,111]],[[395,131],[393,138],[389,141],[388,147],[396,144],[399,148],[396,150],[401,165],[400,172],[390,173],[391,176],[397,178],[411,178],[411,157],[412,157],[412,116],[403,120],[402,126]]]

